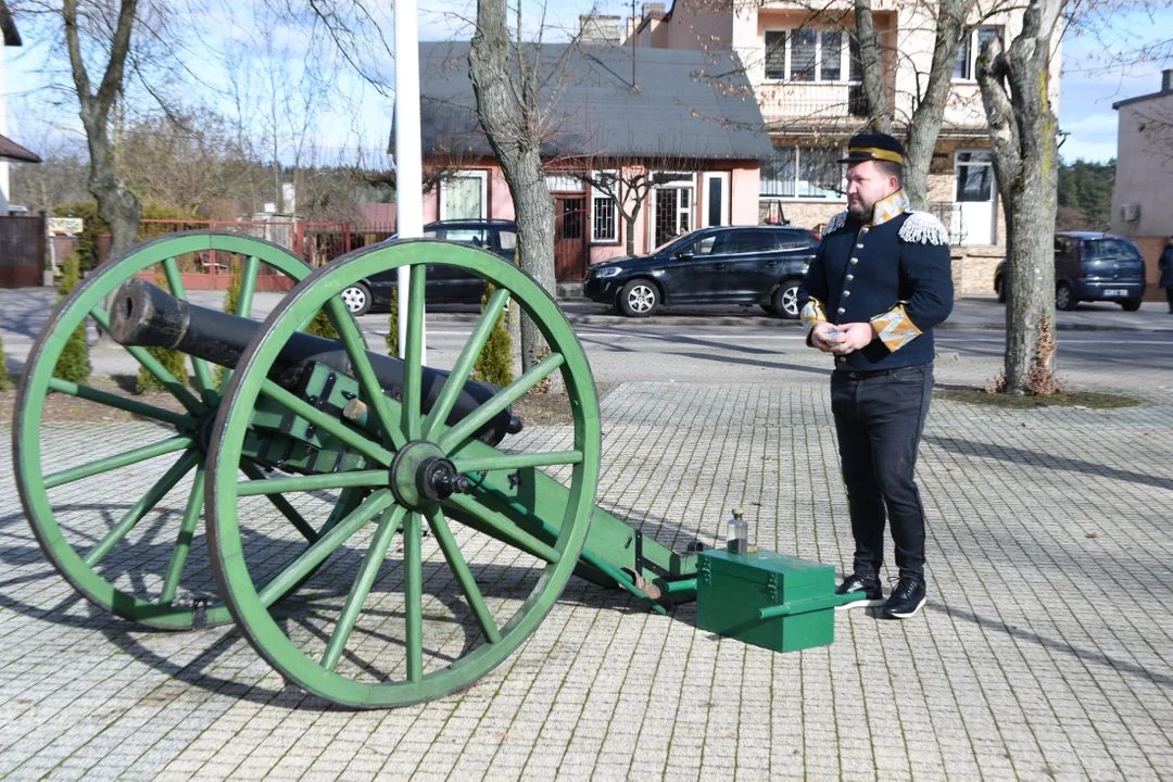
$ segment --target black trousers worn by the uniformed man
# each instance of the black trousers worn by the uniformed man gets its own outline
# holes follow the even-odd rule
[[[859,576],[879,576],[887,519],[901,578],[924,578],[924,505],[914,471],[931,400],[931,363],[830,375]]]

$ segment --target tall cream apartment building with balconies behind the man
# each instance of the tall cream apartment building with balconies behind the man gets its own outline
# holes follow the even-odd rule
[[[873,0],[881,80],[893,107],[894,132],[907,129],[933,60],[931,4]],[[854,40],[854,4],[828,0],[814,8],[784,0],[676,0],[645,2],[629,23],[628,45],[697,50],[732,49],[773,141],[762,164],[761,219],[821,225],[846,208],[840,157],[859,131],[865,104]],[[998,203],[985,111],[975,77],[989,36],[1009,45],[1022,27],[1023,6],[971,20],[954,66],[941,135],[929,170],[930,211],[950,229],[954,273],[962,293],[989,293],[994,266],[1005,256],[1005,218]],[[975,11],[975,14],[977,11]],[[1059,56],[1051,70],[1058,114]]]

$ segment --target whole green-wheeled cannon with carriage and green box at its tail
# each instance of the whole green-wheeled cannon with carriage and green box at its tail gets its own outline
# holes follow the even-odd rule
[[[177,259],[197,252],[239,258],[236,315],[188,301]],[[340,294],[404,266],[407,349],[393,360],[368,352]],[[447,372],[422,362],[423,292],[438,266],[493,288]],[[168,291],[143,279],[151,274]],[[282,302],[263,324],[250,319],[258,286],[283,281],[292,290]],[[504,388],[469,380],[510,301],[550,353]],[[304,333],[319,312],[338,340]],[[54,378],[87,319],[182,410]],[[190,358],[196,393],[150,352],[158,347]],[[210,363],[230,370],[223,385]],[[571,431],[560,449],[536,449],[510,406],[555,372]],[[49,394],[152,422],[150,442],[54,464],[42,441]],[[25,367],[13,437],[34,535],[82,596],[161,630],[233,621],[286,680],[351,707],[472,686],[535,632],[572,574],[625,590],[657,613],[697,600],[701,628],[777,651],[830,642],[834,607],[861,597],[833,594],[830,566],[768,551],[677,552],[597,506],[598,399],[574,329],[524,272],[463,245],[375,245],[317,270],[230,233],[140,245],[54,311]],[[160,460],[165,470],[145,469]],[[124,476],[140,470],[147,488],[121,516],[77,508],[76,490],[62,494],[137,485]],[[172,491],[187,494],[182,514],[157,511]],[[206,567],[189,562],[201,518]]]

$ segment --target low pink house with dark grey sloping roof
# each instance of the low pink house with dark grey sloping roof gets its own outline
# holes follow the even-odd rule
[[[420,45],[425,222],[514,217],[476,118],[468,52],[467,42]],[[629,245],[644,253],[697,227],[758,223],[761,158],[772,148],[735,54],[633,57],[615,45],[523,52],[543,82],[538,130],[556,202],[557,279],[579,280],[588,264]],[[723,67],[710,75],[714,61]]]

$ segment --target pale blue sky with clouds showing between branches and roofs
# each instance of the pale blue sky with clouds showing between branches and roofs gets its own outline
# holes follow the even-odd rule
[[[537,26],[538,11],[534,0],[526,0],[527,26]],[[533,7],[529,2],[534,1]],[[671,0],[667,0],[669,5]],[[387,46],[393,45],[393,22],[389,19],[391,4],[375,4],[373,7],[386,9],[387,19],[379,20],[382,25]],[[638,5],[642,5],[638,4]],[[248,4],[235,6],[239,9]],[[550,0],[547,6],[545,22],[554,29],[571,29],[578,23],[578,14],[586,13],[589,0]],[[221,6],[222,8],[224,6]],[[630,5],[604,0],[598,4],[599,13],[626,16]],[[228,13],[239,13],[230,11]],[[215,16],[205,18],[206,27],[201,38],[211,49],[225,49],[238,45],[239,28],[252,23],[245,16],[232,19]],[[468,20],[475,15],[474,0],[420,0],[420,38],[422,40],[468,39],[472,26]],[[18,19],[18,23],[20,20]],[[1132,13],[1114,16],[1108,26],[1097,36],[1067,35],[1063,43],[1063,79],[1060,82],[1059,127],[1062,137],[1060,155],[1071,162],[1078,158],[1086,161],[1107,161],[1116,157],[1117,113],[1112,109],[1116,101],[1154,93],[1160,89],[1161,69],[1173,68],[1173,57],[1166,52],[1166,59],[1160,62],[1134,62],[1127,67],[1106,67],[1104,52],[1106,48],[1134,48],[1145,42],[1166,39],[1173,29],[1173,7],[1153,12],[1152,14]],[[282,40],[290,45],[291,50],[298,50],[298,36],[294,29],[274,30],[267,38]],[[28,42],[28,34],[25,34]],[[36,140],[46,134],[73,134],[80,138],[80,127],[72,110],[47,109],[50,94],[45,89],[53,76],[41,70],[43,47],[34,43],[29,50],[13,59],[13,49],[8,49],[8,69],[6,93],[9,96],[9,135],[26,145],[36,148]],[[211,62],[210,57],[201,57],[199,72],[210,83],[223,84],[229,79],[222,66]],[[367,69],[377,79],[391,83],[394,79],[394,63],[386,50],[373,49],[366,57]],[[297,67],[293,63],[292,67]],[[56,79],[63,77],[59,74]],[[384,149],[391,131],[392,98],[379,89],[357,76],[352,69],[339,67],[335,75],[340,93],[345,96],[335,106],[324,108],[317,127],[320,147],[327,155],[345,157],[361,148],[368,158],[377,157]],[[212,98],[223,103],[224,98]],[[46,123],[52,122],[53,128]]]

